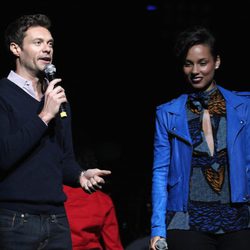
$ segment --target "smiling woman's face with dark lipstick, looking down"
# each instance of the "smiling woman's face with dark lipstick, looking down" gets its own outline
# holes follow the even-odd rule
[[[219,65],[220,57],[215,60],[209,46],[198,44],[188,50],[183,72],[194,89],[209,90],[214,85],[214,74]]]

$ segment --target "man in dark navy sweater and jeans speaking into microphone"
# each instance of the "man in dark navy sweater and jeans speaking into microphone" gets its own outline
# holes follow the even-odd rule
[[[16,69],[0,80],[0,249],[71,249],[62,185],[92,193],[110,171],[76,162],[70,105],[61,79],[46,79],[53,58],[43,14],[9,24],[6,44]],[[59,116],[64,105],[66,118]]]

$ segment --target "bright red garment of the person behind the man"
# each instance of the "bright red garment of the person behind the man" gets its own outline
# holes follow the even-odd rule
[[[73,250],[123,250],[114,204],[101,191],[85,193],[82,188],[64,186],[66,213]],[[104,243],[104,248],[100,239]]]

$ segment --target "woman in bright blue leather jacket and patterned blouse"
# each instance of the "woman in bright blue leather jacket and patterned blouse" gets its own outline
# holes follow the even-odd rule
[[[213,34],[180,33],[176,55],[190,90],[157,107],[150,249],[250,249],[249,92],[215,82]]]

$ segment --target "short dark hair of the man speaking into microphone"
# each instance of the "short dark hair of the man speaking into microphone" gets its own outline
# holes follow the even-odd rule
[[[5,30],[5,45],[9,49],[12,42],[22,46],[25,32],[30,27],[42,26],[48,30],[51,27],[50,19],[44,14],[23,15],[12,23]]]

